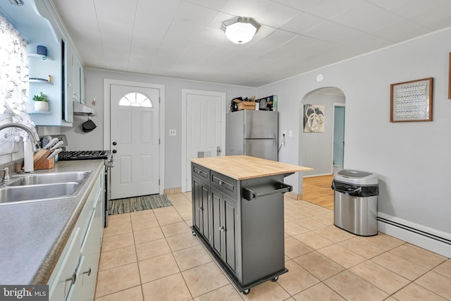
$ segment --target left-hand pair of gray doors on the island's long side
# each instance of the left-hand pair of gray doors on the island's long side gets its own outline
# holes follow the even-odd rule
[[[202,180],[192,177],[192,222],[208,241],[211,240],[209,231],[209,194],[210,186]]]

